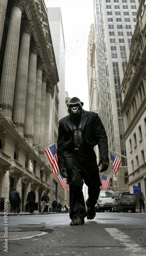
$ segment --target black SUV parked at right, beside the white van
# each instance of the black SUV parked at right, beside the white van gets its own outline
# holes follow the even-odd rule
[[[118,197],[114,200],[114,207],[116,205],[117,212],[129,211],[135,212],[136,210],[136,200],[134,194],[129,192],[119,193]]]

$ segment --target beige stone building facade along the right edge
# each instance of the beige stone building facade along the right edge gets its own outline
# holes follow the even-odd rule
[[[128,66],[121,83],[129,189],[146,193],[146,1],[139,2]]]

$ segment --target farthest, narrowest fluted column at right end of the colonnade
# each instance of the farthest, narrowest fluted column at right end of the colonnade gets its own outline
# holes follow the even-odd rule
[[[45,129],[45,101],[46,101],[46,81],[47,77],[45,72],[42,74],[42,93],[41,93],[41,120],[40,120],[40,144],[44,143],[44,129]],[[39,147],[39,154],[41,158],[43,158],[44,155],[44,145],[40,145]]]

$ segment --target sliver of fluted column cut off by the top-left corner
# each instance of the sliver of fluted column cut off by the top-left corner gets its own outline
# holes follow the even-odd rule
[[[8,0],[0,0],[0,49],[1,49],[1,42],[3,37],[3,30],[4,30],[4,24],[5,24],[5,16],[6,16],[6,10],[7,10],[7,3]]]

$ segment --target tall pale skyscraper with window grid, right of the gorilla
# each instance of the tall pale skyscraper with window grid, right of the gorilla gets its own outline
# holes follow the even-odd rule
[[[109,153],[121,159],[111,187],[123,191],[128,183],[128,169],[120,83],[129,59],[139,3],[138,0],[95,0],[93,4],[98,113],[107,132]],[[112,177],[111,165],[107,174]]]

